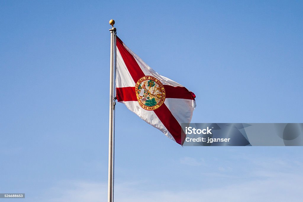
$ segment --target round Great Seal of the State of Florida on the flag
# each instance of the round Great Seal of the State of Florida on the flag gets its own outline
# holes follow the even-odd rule
[[[155,110],[164,103],[164,86],[155,77],[144,76],[140,78],[135,85],[135,90],[138,102],[145,110]]]

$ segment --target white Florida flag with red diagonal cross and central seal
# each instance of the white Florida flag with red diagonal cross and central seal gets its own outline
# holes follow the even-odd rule
[[[117,37],[116,98],[140,118],[178,144],[185,133],[181,123],[190,123],[196,107],[195,94],[159,75]]]

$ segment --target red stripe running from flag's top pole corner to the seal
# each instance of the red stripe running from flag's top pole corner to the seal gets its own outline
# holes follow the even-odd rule
[[[145,76],[142,69],[139,67],[137,61],[135,60],[134,56],[128,52],[128,50],[123,46],[123,42],[120,38],[117,37],[117,48],[122,56],[122,59],[127,67],[128,72],[132,76],[135,83]]]

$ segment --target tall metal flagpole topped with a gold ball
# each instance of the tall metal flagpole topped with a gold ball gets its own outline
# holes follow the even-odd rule
[[[115,39],[116,28],[114,27],[115,21],[110,20],[109,24],[112,28],[109,30],[111,33],[111,61],[110,61],[110,73],[109,73],[109,132],[108,132],[108,202],[114,200],[114,110],[115,110],[115,98],[114,98],[114,65],[115,65]]]

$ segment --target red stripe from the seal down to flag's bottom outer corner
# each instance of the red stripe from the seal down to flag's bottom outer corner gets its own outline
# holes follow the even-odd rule
[[[163,103],[161,107],[154,110],[162,124],[166,127],[168,132],[175,138],[178,144],[183,144],[185,140],[185,133],[182,130],[179,122],[171,114],[171,111]]]

